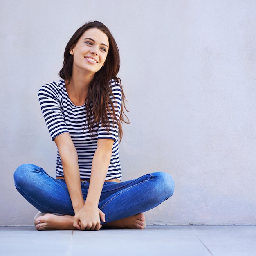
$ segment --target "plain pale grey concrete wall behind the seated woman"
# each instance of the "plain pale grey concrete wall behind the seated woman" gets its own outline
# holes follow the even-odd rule
[[[67,41],[89,20],[121,52],[124,180],[165,171],[176,182],[147,224],[255,225],[255,10],[255,0],[1,1],[0,225],[33,225],[13,172],[32,163],[54,176],[37,92],[58,80]]]

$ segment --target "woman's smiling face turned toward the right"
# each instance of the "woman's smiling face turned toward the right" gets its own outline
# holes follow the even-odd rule
[[[108,55],[108,37],[101,30],[86,30],[76,45],[70,49],[73,55],[73,71],[95,74],[104,65]]]

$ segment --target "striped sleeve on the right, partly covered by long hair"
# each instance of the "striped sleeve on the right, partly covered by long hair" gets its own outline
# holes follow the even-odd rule
[[[104,127],[102,125],[102,122],[100,121],[97,139],[113,139],[114,141],[116,141],[119,134],[118,123],[120,121],[120,115],[121,115],[122,91],[121,91],[121,85],[115,80],[110,81],[110,88],[113,94],[113,95],[110,95],[110,100],[113,103],[113,106],[114,106],[113,111],[115,111],[117,121],[115,121],[113,119],[113,115],[111,115],[111,113],[108,112],[110,129],[108,131],[107,128]]]

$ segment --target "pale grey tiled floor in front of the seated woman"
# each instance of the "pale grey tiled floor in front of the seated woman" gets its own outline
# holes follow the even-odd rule
[[[256,226],[36,231],[0,227],[1,256],[255,256]]]

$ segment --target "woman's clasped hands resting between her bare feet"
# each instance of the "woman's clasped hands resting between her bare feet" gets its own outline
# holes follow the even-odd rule
[[[105,214],[97,207],[84,205],[84,207],[75,214],[73,226],[80,230],[99,230],[105,222]]]

